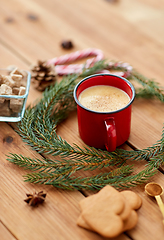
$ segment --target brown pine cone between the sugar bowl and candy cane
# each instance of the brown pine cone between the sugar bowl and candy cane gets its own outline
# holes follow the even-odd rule
[[[56,72],[54,66],[47,65],[46,61],[38,61],[38,65],[31,69],[31,77],[36,88],[44,91],[46,87],[56,82]]]

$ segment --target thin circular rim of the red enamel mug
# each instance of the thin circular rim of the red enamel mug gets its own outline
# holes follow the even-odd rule
[[[86,80],[89,79],[89,78],[96,77],[96,76],[113,76],[113,77],[117,77],[117,78],[120,78],[120,79],[124,80],[124,81],[130,86],[130,88],[131,88],[131,90],[132,90],[132,97],[131,97],[129,103],[128,103],[125,107],[123,107],[123,108],[120,108],[120,109],[115,110],[115,111],[110,111],[110,112],[94,111],[94,110],[90,110],[90,109],[86,108],[85,106],[83,106],[83,105],[79,102],[79,100],[78,100],[78,98],[77,98],[77,96],[76,96],[77,89],[78,89],[78,87],[79,87],[84,81],[86,81]],[[109,73],[98,73],[98,74],[93,74],[93,75],[90,75],[90,76],[88,76],[88,77],[86,77],[86,78],[83,78],[83,79],[75,86],[74,92],[73,92],[73,96],[74,96],[75,102],[76,102],[81,108],[85,109],[86,111],[93,112],[93,113],[98,113],[98,114],[110,114],[110,113],[117,113],[117,112],[120,112],[120,111],[128,108],[128,107],[132,104],[132,102],[134,101],[134,98],[135,98],[135,89],[134,89],[134,86],[131,84],[131,82],[129,82],[129,81],[128,81],[126,78],[124,78],[124,77],[120,77],[120,76],[117,76],[117,75],[115,75],[115,74],[109,74]]]

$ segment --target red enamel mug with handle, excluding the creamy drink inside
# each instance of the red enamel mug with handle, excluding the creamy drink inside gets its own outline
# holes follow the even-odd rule
[[[78,97],[85,89],[107,85],[126,92],[130,101],[116,111],[97,112],[84,107]],[[113,74],[95,74],[81,80],[74,89],[77,103],[78,128],[81,139],[89,146],[112,152],[129,138],[131,128],[131,105],[135,98],[133,85],[125,78]]]

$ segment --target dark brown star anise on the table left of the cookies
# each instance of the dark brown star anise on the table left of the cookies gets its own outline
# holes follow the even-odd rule
[[[43,191],[35,192],[33,194],[26,193],[27,198],[24,200],[30,206],[35,207],[40,203],[43,203],[46,198],[46,193]]]

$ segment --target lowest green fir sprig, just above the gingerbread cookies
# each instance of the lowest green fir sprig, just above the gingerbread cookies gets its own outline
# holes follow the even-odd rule
[[[86,188],[87,185],[89,186],[89,189],[91,189],[92,185],[93,190],[96,189],[98,186],[99,188],[101,188],[100,185],[102,184],[102,182],[104,182],[104,184],[109,184],[109,182],[116,182],[118,179],[128,176],[131,172],[131,166],[124,166],[121,168],[121,170],[117,169],[108,173],[101,173],[85,178],[75,176],[70,177],[70,175],[54,174],[50,172],[37,172],[27,174],[24,177],[25,181],[30,181],[32,183],[44,183],[46,185],[51,184],[57,187],[62,187],[62,185],[64,184],[64,188],[67,189],[81,190],[83,188]]]

